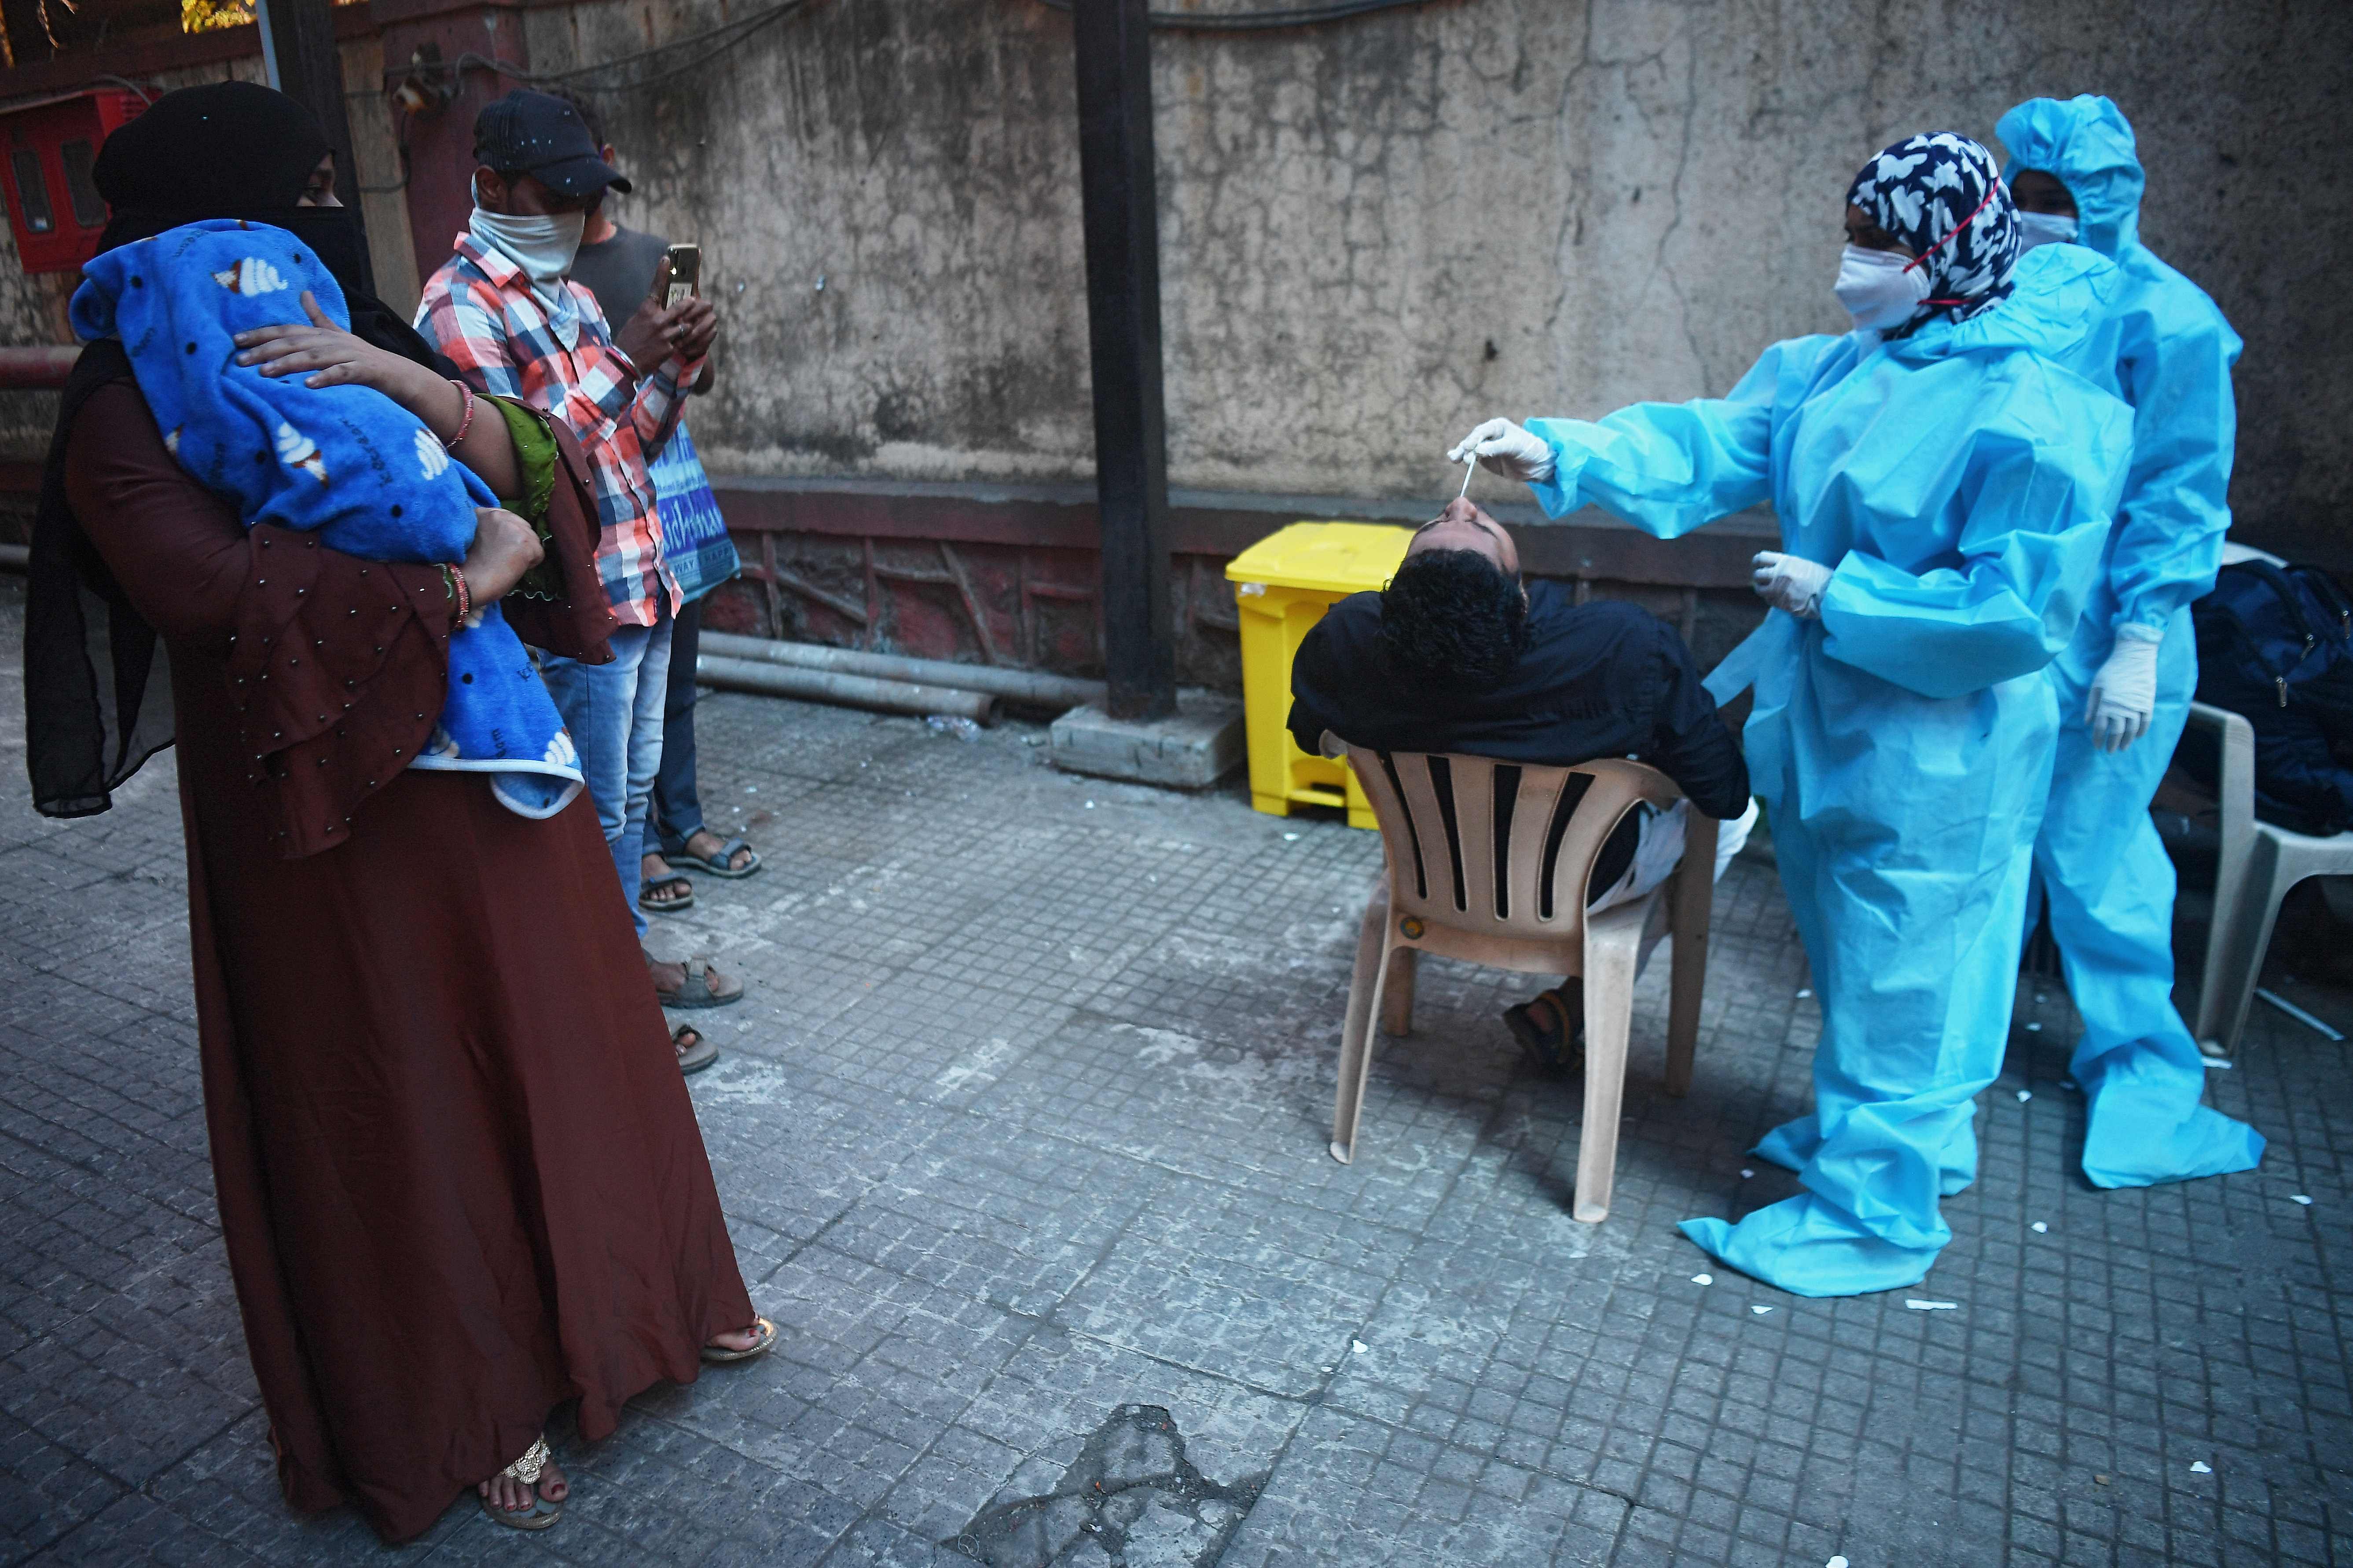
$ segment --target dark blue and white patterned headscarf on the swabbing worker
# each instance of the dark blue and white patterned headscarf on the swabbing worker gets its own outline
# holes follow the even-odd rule
[[[2000,167],[1960,132],[1925,132],[1880,150],[1847,186],[1847,202],[1920,256],[1927,315],[1965,320],[2009,296],[2019,214]]]

